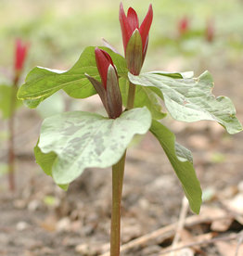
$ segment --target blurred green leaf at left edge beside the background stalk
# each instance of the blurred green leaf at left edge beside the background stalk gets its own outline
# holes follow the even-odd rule
[[[2,111],[2,117],[7,119],[10,117],[10,106],[12,104],[12,93],[13,93],[14,86],[8,85],[0,85],[0,110]],[[22,106],[21,100],[16,98],[16,106],[15,108],[18,109]]]

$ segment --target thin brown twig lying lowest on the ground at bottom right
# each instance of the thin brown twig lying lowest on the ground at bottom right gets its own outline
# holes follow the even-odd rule
[[[230,236],[228,236],[228,237],[215,237],[215,238],[211,238],[211,239],[208,239],[208,240],[193,242],[193,243],[189,243],[189,244],[187,244],[187,245],[184,245],[184,246],[181,246],[181,247],[178,247],[178,248],[175,248],[175,249],[163,250],[163,251],[160,253],[160,256],[161,256],[161,255],[164,255],[164,254],[167,254],[167,253],[169,253],[169,252],[172,252],[172,251],[183,250],[183,249],[185,249],[185,248],[195,247],[195,246],[199,246],[199,245],[212,244],[212,243],[216,243],[216,242],[219,242],[219,241],[234,240],[234,239],[237,239],[237,237],[238,237],[238,234],[232,234],[232,235],[230,235]]]

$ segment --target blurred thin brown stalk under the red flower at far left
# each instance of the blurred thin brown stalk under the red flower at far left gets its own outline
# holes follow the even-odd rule
[[[15,108],[16,108],[16,94],[18,90],[19,74],[17,73],[14,78],[14,83],[10,99],[10,116],[8,120],[8,186],[9,190],[15,191],[15,149],[14,149],[14,125],[15,125]]]

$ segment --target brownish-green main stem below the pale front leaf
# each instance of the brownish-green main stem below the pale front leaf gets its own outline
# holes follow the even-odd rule
[[[126,152],[121,160],[112,166],[112,212],[110,227],[110,256],[120,255],[121,237],[121,194]]]

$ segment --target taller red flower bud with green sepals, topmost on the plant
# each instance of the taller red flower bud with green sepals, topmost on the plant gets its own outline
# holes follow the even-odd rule
[[[152,5],[148,7],[147,15],[140,27],[137,14],[134,9],[130,7],[126,16],[122,3],[120,5],[119,19],[121,24],[124,53],[128,62],[128,69],[137,75],[142,68],[147,53],[148,32],[153,19]],[[137,32],[140,36],[137,36]],[[140,56],[142,58],[140,58]]]

